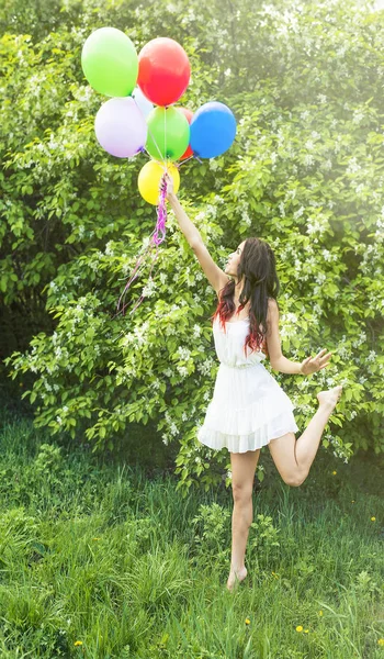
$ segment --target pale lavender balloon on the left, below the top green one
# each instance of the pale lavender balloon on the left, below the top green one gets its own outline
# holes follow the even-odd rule
[[[103,103],[95,115],[94,132],[99,144],[112,156],[129,158],[140,152],[148,126],[132,97]]]

